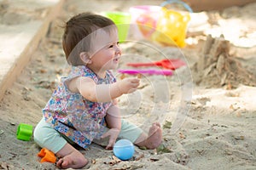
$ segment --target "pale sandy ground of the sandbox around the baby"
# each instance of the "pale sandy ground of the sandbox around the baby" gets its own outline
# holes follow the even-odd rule
[[[20,123],[36,126],[59,78],[67,74],[61,49],[63,20],[82,11],[128,11],[138,4],[114,2],[67,1],[64,5],[31,63],[0,103],[0,169],[55,169],[51,163],[39,162],[40,148],[33,139],[16,139],[16,129]],[[112,150],[92,144],[81,150],[90,159],[84,169],[255,169],[255,7],[252,3],[196,15],[186,48],[146,40],[122,43],[124,57],[119,68],[129,68],[128,62],[165,58],[183,59],[187,66],[174,71],[172,77],[143,76],[136,93],[119,98],[123,116],[143,130],[148,130],[150,122],[161,123],[164,138],[160,148],[136,147],[130,161],[119,162],[113,160]],[[219,38],[209,42],[210,33],[216,37],[224,34],[230,43]]]

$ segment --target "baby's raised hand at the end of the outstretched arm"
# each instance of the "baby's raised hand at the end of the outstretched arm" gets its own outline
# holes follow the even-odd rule
[[[131,94],[137,90],[137,87],[140,85],[140,80],[138,78],[125,78],[118,83],[119,90],[123,94]]]

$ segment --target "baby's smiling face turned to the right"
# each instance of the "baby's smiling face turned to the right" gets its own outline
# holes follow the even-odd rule
[[[91,69],[94,71],[116,69],[121,55],[117,28],[113,26],[110,31],[99,29],[91,40]]]

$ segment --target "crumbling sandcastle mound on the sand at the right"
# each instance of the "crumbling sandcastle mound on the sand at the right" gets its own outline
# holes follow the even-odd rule
[[[230,42],[224,37],[207,36],[200,58],[192,71],[197,85],[215,88],[237,88],[239,84],[256,86],[255,75],[230,55]]]

